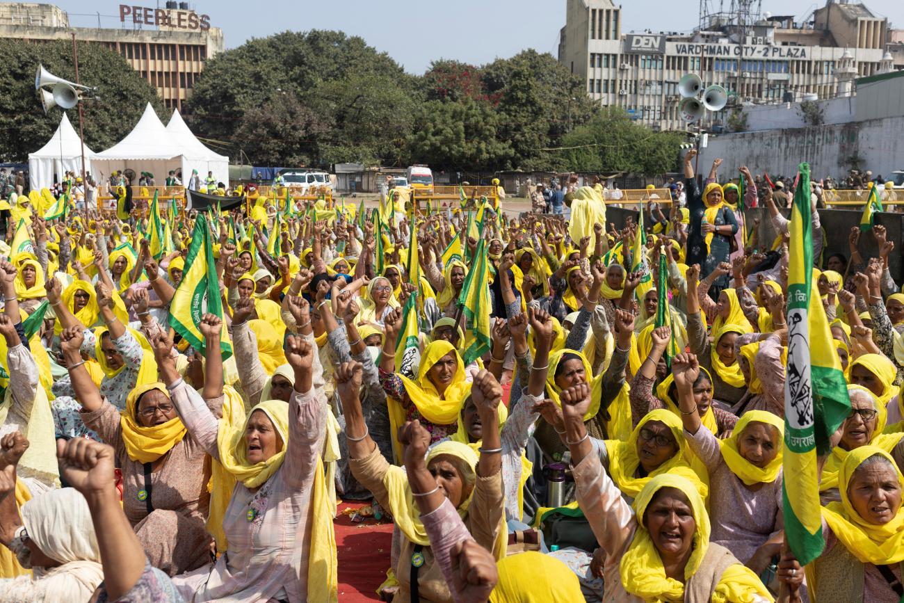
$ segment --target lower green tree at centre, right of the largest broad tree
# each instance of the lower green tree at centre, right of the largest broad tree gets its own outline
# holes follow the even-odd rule
[[[498,136],[498,121],[484,102],[430,100],[421,106],[410,136],[411,161],[460,170],[509,165],[513,149]]]

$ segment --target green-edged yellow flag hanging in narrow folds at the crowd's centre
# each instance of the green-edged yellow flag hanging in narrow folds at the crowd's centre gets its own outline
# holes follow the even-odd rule
[[[466,334],[462,361],[467,365],[487,353],[490,349],[490,314],[493,312],[493,299],[490,297],[489,249],[486,240],[477,241],[471,267],[461,293],[458,294],[458,306],[466,318]]]

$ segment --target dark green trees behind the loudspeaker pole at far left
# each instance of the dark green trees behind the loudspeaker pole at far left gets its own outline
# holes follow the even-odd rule
[[[34,73],[42,64],[47,71],[75,81],[71,42],[0,40],[0,157],[26,161],[53,136],[60,124],[61,108],[44,115]],[[134,127],[148,102],[166,120],[169,113],[154,88],[116,52],[99,44],[79,44],[79,76],[85,85],[97,86],[97,100],[84,100],[85,145],[102,151],[118,143]],[[72,126],[79,128],[77,108],[69,111]]]

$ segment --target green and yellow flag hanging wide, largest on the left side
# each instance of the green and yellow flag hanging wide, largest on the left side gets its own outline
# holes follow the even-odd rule
[[[213,259],[213,242],[207,221],[198,217],[194,221],[192,244],[185,258],[182,281],[176,288],[170,305],[169,324],[199,353],[205,353],[204,336],[198,325],[204,314],[223,318],[220,281],[217,278],[216,260]],[[220,335],[220,352],[223,360],[232,355],[232,343],[226,325]]]

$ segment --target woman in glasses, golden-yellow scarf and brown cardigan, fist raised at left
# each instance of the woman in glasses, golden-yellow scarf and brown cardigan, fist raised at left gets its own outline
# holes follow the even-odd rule
[[[100,395],[80,362],[83,334],[78,328],[62,334],[62,351],[80,416],[104,442],[117,451],[122,469],[122,504],[148,561],[170,576],[202,567],[209,560],[211,537],[204,528],[208,513],[207,452],[186,438],[163,383],[139,385],[130,391],[121,412]],[[212,372],[219,369],[219,372]],[[207,366],[208,389],[203,395],[219,415],[222,364]],[[217,385],[220,384],[220,385]]]

